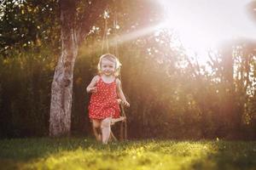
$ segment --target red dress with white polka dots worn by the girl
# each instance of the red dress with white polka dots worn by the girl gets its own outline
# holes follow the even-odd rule
[[[96,84],[97,92],[91,94],[89,105],[90,119],[119,118],[120,108],[117,101],[116,82],[103,82],[102,77]]]

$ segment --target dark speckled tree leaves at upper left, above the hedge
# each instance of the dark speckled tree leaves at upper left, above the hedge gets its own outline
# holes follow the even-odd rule
[[[59,9],[55,0],[13,1],[0,3],[0,54],[51,45],[57,52],[60,46]]]

